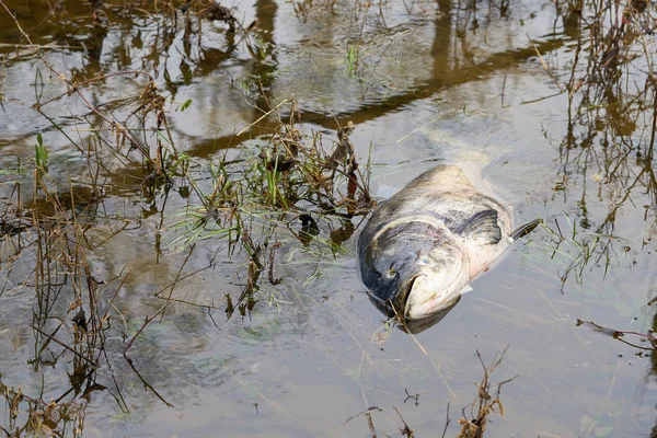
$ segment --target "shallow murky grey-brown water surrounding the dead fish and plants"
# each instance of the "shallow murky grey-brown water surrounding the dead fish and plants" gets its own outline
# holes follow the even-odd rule
[[[228,257],[226,244],[212,240],[192,252],[173,244],[187,199],[175,192],[165,199],[148,196],[138,160],[127,164],[104,152],[99,172],[105,196],[84,219],[94,223],[96,242],[117,221],[129,226],[91,251],[88,263],[99,280],[130,274],[113,301],[114,327],[94,378],[105,389],[83,402],[83,436],[368,436],[358,414],[377,406],[380,435],[399,436],[396,407],[417,437],[430,437],[442,434],[448,404],[447,436],[456,436],[461,408],[476,395],[472,381],[482,377],[475,351],[491,362],[507,346],[492,380],[517,377],[504,387],[505,415],[491,416],[486,436],[650,436],[657,416],[652,351],[577,326],[577,320],[644,333],[653,326],[647,303],[654,298],[656,203],[644,157],[654,91],[627,91],[634,85],[623,84],[631,81],[612,73],[587,77],[585,50],[575,78],[587,82],[572,100],[562,93],[580,36],[566,9],[440,0],[336,2],[296,13],[290,2],[242,2],[235,4],[239,19],[258,20],[264,56],[256,59],[228,39],[221,23],[205,22],[186,39],[182,19],[171,31],[164,11],[108,7],[108,23],[96,25],[90,5],[66,4],[68,14],[57,15],[57,23],[38,1],[8,5],[33,43],[46,46],[42,54],[55,69],[79,81],[118,70],[153,74],[174,102],[168,104],[172,136],[197,175],[207,174],[208,161],[224,148],[268,132],[273,123],[265,119],[234,135],[262,115],[254,105],[293,96],[306,132],[334,138],[336,122],[356,124],[351,140],[361,163],[371,154],[371,189],[379,198],[436,163],[459,163],[482,173],[514,207],[518,223],[545,220],[445,320],[415,337],[389,331],[369,303],[356,272],[358,231],[336,254],[280,234],[275,276],[283,283],[264,281],[251,314],[227,319],[226,293],[239,296],[247,281],[244,253]],[[1,42],[24,44],[8,15],[0,18]],[[358,51],[355,64],[349,47]],[[64,96],[43,107],[49,122],[32,105],[66,87],[28,47],[3,46],[2,56],[2,197],[14,201],[15,182],[31,186],[41,132],[55,184],[62,194],[72,184],[73,196],[84,200],[88,162],[67,136],[87,145],[94,135],[90,125],[101,120],[80,99]],[[619,69],[639,74],[644,67]],[[138,95],[145,84],[138,76],[116,76],[83,93],[95,105],[117,105],[120,118],[127,111],[117,100]],[[187,100],[191,106],[176,111]],[[320,221],[324,238],[330,227],[339,221]],[[162,306],[153,295],[175,283],[181,269],[204,270],[176,285],[180,302],[129,351],[169,407],[120,353]],[[8,274],[0,296],[2,383],[57,399],[71,388],[72,358],[28,364],[35,302],[31,281],[21,284],[20,274],[28,276],[30,267]],[[116,287],[102,289],[102,307]],[[68,304],[59,304],[62,339],[72,339]],[[649,347],[639,337],[627,341]],[[0,410],[7,418],[9,407]]]

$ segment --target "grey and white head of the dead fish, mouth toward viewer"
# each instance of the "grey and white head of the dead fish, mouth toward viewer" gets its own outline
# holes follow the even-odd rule
[[[391,227],[361,266],[372,302],[390,316],[418,320],[450,308],[470,283],[468,252],[449,230],[426,222]]]

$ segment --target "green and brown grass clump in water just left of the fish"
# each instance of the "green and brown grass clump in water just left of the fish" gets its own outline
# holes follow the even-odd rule
[[[279,239],[293,237],[302,246],[314,241],[335,253],[354,232],[353,224],[347,224],[350,219],[365,215],[373,204],[369,176],[358,170],[349,140],[353,124],[338,130],[338,141],[330,152],[322,136],[302,135],[291,120],[286,124],[279,115],[277,119],[277,130],[261,138],[263,142],[243,148],[240,159],[229,161],[223,155],[210,163],[211,193],[198,189],[200,205],[188,207],[171,227],[177,234],[173,245],[222,239],[229,253],[239,247],[247,254],[246,285],[235,302],[229,299],[229,316],[235,309],[242,315],[251,311],[262,272],[268,272],[273,285],[279,281],[273,274]],[[320,235],[315,218],[344,219],[345,223],[326,239]],[[301,227],[295,230],[292,222]],[[263,297],[278,302],[275,292]]]

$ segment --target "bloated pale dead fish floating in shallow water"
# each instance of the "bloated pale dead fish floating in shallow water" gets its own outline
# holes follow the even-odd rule
[[[511,214],[479,192],[461,168],[439,165],[384,201],[358,238],[360,278],[370,300],[403,321],[451,309],[540,220],[512,231]]]

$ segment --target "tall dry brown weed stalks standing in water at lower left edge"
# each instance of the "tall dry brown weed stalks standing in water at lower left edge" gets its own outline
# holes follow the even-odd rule
[[[39,160],[45,160],[43,154]],[[43,165],[43,161],[35,160],[32,203],[27,208],[7,211],[0,218],[3,233],[9,231],[10,224],[12,227],[3,237],[0,252],[0,272],[5,276],[0,296],[8,285],[22,285],[19,288],[32,285],[34,355],[27,364],[38,372],[56,367],[65,355],[72,355],[72,372],[68,374],[70,389],[55,400],[44,401],[45,388],[39,397],[34,397],[0,381],[0,393],[9,406],[2,429],[12,437],[77,437],[82,436],[91,394],[106,390],[95,379],[105,333],[111,326],[108,309],[102,311],[99,306],[104,286],[92,277],[87,256],[90,249],[101,246],[113,234],[105,240],[91,235],[89,223],[81,221],[93,216],[93,197],[85,199],[89,204],[80,208],[81,199],[73,188],[59,194],[51,178],[43,177],[45,172],[43,168],[39,171],[39,164]],[[16,197],[20,199],[20,186]],[[110,226],[111,221],[105,223]],[[115,233],[126,224],[116,227]],[[26,278],[18,277],[23,265],[34,267]],[[110,306],[112,303],[113,300]],[[72,324],[67,324],[67,320]],[[21,424],[25,418],[23,412],[27,417]]]

